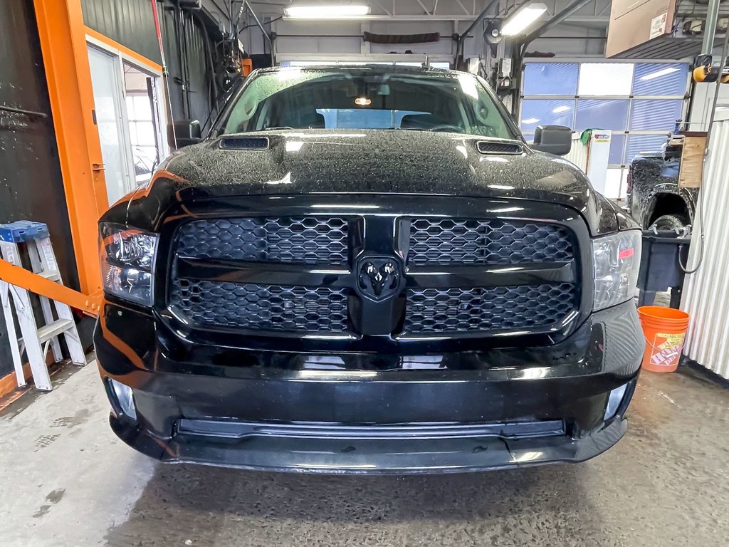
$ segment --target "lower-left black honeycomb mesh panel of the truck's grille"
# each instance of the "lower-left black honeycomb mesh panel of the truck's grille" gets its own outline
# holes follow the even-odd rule
[[[253,330],[347,330],[345,289],[174,279],[170,303],[198,325]]]

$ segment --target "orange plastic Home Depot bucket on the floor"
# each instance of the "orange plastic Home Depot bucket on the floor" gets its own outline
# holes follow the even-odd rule
[[[638,316],[645,336],[643,368],[652,372],[673,372],[683,351],[689,316],[685,311],[642,306]]]

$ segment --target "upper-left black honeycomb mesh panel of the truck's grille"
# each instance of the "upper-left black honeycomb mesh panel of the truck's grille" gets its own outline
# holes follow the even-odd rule
[[[347,262],[347,220],[342,217],[194,220],[179,229],[177,255],[340,265]]]

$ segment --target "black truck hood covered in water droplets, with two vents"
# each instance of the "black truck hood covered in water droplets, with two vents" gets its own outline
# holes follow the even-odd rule
[[[628,222],[569,161],[527,147],[517,155],[484,154],[478,149],[484,140],[397,130],[223,136],[174,152],[149,187],[122,199],[102,220],[118,222],[124,209],[126,224],[147,228],[174,203],[200,198],[397,193],[559,203],[580,212],[593,233],[615,231]]]

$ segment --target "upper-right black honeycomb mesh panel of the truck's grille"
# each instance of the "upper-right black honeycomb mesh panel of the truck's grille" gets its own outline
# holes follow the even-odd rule
[[[561,226],[501,220],[413,219],[408,261],[416,265],[569,262]]]

